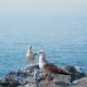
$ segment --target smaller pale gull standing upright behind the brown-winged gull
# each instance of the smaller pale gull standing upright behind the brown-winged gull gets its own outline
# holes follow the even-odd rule
[[[28,49],[27,49],[27,52],[26,52],[26,58],[29,60],[29,62],[32,62],[32,64],[34,65],[34,62],[35,62],[35,55],[32,51],[32,45],[28,45]]]

